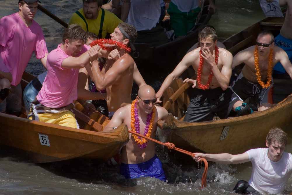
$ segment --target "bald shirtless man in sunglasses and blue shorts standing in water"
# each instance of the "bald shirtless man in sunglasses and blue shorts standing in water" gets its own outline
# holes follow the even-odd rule
[[[154,89],[149,85],[140,87],[138,96],[133,101],[133,103],[119,108],[114,114],[112,120],[110,120],[109,124],[105,127],[104,131],[110,131],[114,127],[118,127],[122,123],[125,123],[129,129],[131,127],[132,131],[140,131],[140,134],[144,134],[145,126],[152,116],[152,113],[154,114],[152,123],[153,128],[149,137],[154,138],[157,129],[157,121],[165,120],[168,114],[168,112],[163,107],[154,106],[155,102],[156,99]],[[140,121],[140,129],[135,129],[135,127],[133,129],[131,126],[132,120],[135,120],[135,118],[131,118],[132,106],[134,109],[137,108],[138,110],[137,118]],[[150,132],[150,129],[148,132]],[[155,154],[154,142],[146,140],[147,142],[145,147],[142,147],[142,145],[135,142],[133,134],[130,133],[129,136],[131,139],[122,148],[121,151],[121,174],[126,178],[156,177],[165,181],[166,177],[162,169],[162,164]]]

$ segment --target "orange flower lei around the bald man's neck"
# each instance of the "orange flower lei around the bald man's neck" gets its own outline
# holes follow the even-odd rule
[[[137,106],[137,100],[135,99],[131,104],[131,131],[140,133],[140,124],[139,124],[139,117],[138,117],[138,110],[135,111],[135,108]],[[153,108],[154,109],[154,108]],[[149,124],[146,124],[145,126],[145,136],[150,137],[152,128],[153,128],[153,121],[155,117],[155,112],[152,110],[152,113],[148,114],[152,115]],[[147,129],[147,126],[149,125],[149,128]],[[137,129],[138,128],[138,129]],[[147,129],[147,130],[146,130]],[[140,145],[140,148],[145,148],[147,144],[147,139],[140,138],[137,135],[132,134],[136,144]]]

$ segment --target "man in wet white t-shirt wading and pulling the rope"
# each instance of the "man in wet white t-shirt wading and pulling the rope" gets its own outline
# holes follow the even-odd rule
[[[277,194],[284,190],[292,170],[292,155],[284,152],[287,134],[279,127],[272,128],[267,134],[268,148],[251,149],[242,154],[232,155],[195,153],[194,160],[213,161],[224,164],[239,164],[251,161],[253,170],[251,179],[240,180],[234,187],[239,194],[251,194],[256,191],[261,194]]]

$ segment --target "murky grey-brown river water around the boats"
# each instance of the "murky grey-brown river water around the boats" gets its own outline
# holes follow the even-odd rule
[[[70,15],[81,7],[81,0],[42,0],[42,5],[68,22]],[[224,40],[249,25],[264,18],[256,0],[218,0],[218,11],[212,16],[213,25],[220,40]],[[0,1],[0,18],[18,11],[17,1]],[[63,27],[38,11],[36,17],[43,28],[48,50],[61,42]],[[38,75],[44,71],[33,56],[27,71]],[[143,73],[142,73],[143,75]],[[291,127],[287,127],[289,132]],[[292,134],[289,133],[291,143]],[[263,143],[264,147],[264,143]],[[208,187],[200,189],[203,169],[197,169],[189,156],[175,159],[160,146],[157,153],[163,162],[168,183],[153,178],[125,180],[117,168],[105,163],[72,160],[57,163],[33,164],[20,158],[10,149],[0,149],[0,194],[234,194],[232,189],[238,180],[248,180],[251,163],[241,165],[211,164],[208,171]],[[292,152],[292,144],[286,147]],[[170,160],[175,159],[175,160]],[[292,180],[286,185],[292,191]]]

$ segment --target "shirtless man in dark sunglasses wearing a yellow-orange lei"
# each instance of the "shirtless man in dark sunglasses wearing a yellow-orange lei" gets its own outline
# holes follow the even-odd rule
[[[271,107],[268,103],[268,90],[272,87],[272,80],[270,85],[263,88],[257,80],[255,69],[255,49],[258,51],[258,64],[261,75],[261,82],[268,80],[267,73],[269,67],[269,54],[273,49],[273,61],[272,67],[280,62],[289,76],[292,78],[292,64],[289,61],[287,53],[274,44],[274,35],[269,31],[262,31],[258,34],[257,44],[255,46],[248,47],[247,49],[240,51],[233,58],[232,68],[245,63],[240,75],[232,85],[233,91],[244,101],[250,98],[249,102],[254,102],[254,106],[258,108],[258,111],[266,110]],[[272,71],[272,70],[271,70]],[[272,77],[271,77],[272,79]],[[237,102],[239,103],[239,102]]]

